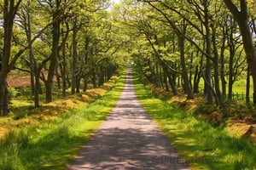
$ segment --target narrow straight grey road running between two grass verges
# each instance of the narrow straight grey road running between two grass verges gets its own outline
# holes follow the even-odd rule
[[[67,168],[189,169],[137,100],[128,69],[124,91],[97,133]]]

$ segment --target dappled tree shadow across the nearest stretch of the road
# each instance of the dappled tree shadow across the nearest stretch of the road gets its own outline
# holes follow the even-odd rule
[[[98,131],[69,169],[185,169],[183,159],[157,129],[105,128]]]

